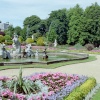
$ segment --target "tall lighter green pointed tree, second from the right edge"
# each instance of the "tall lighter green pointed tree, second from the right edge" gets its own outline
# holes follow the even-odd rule
[[[68,11],[69,29],[68,29],[68,44],[76,44],[79,42],[82,32],[83,9],[77,4],[74,8]]]

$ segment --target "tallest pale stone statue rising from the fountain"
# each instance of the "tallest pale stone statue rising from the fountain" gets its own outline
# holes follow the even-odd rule
[[[14,38],[13,38],[13,44],[12,44],[13,48],[15,49],[15,53],[16,54],[20,54],[21,53],[21,44],[18,40],[18,35],[14,33]]]

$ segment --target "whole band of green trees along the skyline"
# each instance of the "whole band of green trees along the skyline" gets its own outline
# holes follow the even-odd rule
[[[35,41],[41,36],[46,37],[48,42],[57,39],[58,44],[82,45],[91,43],[100,45],[100,5],[94,3],[86,9],[76,5],[70,9],[51,11],[47,19],[40,19],[36,15],[24,19],[23,28],[9,26],[6,35],[13,36],[16,32],[23,37],[34,34]]]

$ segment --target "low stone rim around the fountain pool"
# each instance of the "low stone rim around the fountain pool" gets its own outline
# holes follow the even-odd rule
[[[56,52],[56,53],[47,53],[47,54],[62,54],[62,55],[66,54],[66,55],[71,55],[71,56],[75,56],[75,57],[78,57],[78,58],[73,58],[73,59],[66,59],[65,58],[65,59],[53,60],[53,61],[1,62],[0,66],[16,65],[16,64],[26,65],[26,64],[35,64],[35,63],[52,64],[52,63],[66,62],[66,61],[73,61],[73,60],[83,60],[83,59],[87,59],[89,57],[89,54],[85,54],[85,53]]]

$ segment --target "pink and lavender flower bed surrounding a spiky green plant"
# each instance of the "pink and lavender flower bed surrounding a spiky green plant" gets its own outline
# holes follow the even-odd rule
[[[7,100],[63,100],[88,77],[63,73],[35,73],[23,77],[0,77],[0,97]]]

